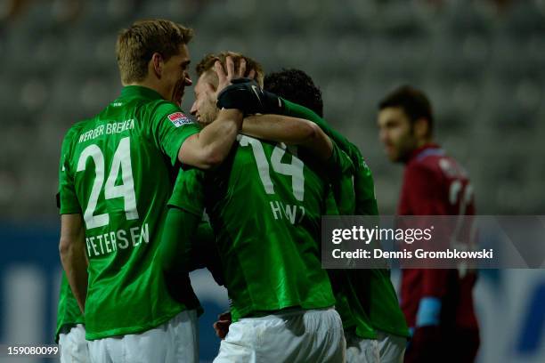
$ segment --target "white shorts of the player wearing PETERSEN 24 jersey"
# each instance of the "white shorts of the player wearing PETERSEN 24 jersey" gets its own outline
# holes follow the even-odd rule
[[[182,311],[167,323],[140,334],[89,342],[93,363],[198,363],[197,311]]]

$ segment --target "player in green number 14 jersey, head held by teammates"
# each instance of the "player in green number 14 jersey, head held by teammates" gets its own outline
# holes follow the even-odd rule
[[[218,111],[216,58],[224,54],[209,55],[197,66],[191,112],[205,129],[214,125]],[[242,133],[253,134],[251,125],[259,118],[245,118]],[[270,139],[288,141],[284,137],[290,135],[313,156],[305,148],[241,135],[216,170],[179,173],[169,201],[166,270],[189,263],[188,241],[205,207],[216,234],[234,321],[216,363],[345,359],[342,323],[332,309],[335,299],[318,242],[330,192],[328,167],[338,164],[338,150],[318,127],[312,141],[305,141],[280,130],[285,125],[289,122],[279,120]]]

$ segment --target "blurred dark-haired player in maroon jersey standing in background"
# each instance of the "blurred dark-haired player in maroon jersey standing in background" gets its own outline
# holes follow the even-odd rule
[[[465,170],[433,140],[427,96],[411,86],[378,106],[379,138],[393,162],[405,165],[399,215],[473,215],[473,190]],[[401,305],[412,339],[405,362],[473,362],[479,333],[465,270],[405,269]]]

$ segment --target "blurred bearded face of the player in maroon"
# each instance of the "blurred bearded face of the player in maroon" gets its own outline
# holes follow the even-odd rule
[[[417,148],[411,121],[399,107],[387,107],[378,112],[378,137],[391,161],[403,162]]]

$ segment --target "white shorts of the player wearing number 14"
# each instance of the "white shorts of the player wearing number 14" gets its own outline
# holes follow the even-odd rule
[[[342,363],[345,349],[335,309],[291,310],[233,323],[214,363]]]

